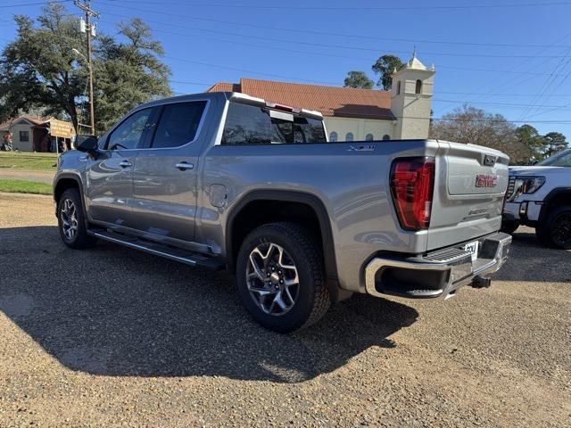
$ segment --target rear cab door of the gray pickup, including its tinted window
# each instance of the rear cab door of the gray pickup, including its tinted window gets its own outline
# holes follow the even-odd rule
[[[207,101],[165,104],[133,172],[136,228],[155,239],[194,240],[198,158]]]

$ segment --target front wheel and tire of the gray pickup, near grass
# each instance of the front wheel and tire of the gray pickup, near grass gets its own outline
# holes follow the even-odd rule
[[[78,189],[71,188],[62,193],[57,202],[57,224],[63,243],[70,248],[93,247],[97,241],[87,235],[87,221]]]

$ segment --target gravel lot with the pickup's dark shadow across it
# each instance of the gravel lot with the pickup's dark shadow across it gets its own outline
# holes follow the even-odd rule
[[[232,276],[60,242],[0,194],[0,426],[571,426],[571,254],[514,237],[492,288],[355,296],[279,335]]]

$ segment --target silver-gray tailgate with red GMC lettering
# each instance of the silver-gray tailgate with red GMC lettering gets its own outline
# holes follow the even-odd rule
[[[439,142],[428,250],[500,229],[509,158],[473,144]]]

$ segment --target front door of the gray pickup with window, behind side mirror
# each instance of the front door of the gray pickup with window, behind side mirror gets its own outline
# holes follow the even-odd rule
[[[154,109],[136,111],[124,119],[87,165],[89,219],[116,226],[132,226],[133,167],[137,152],[153,123]]]

